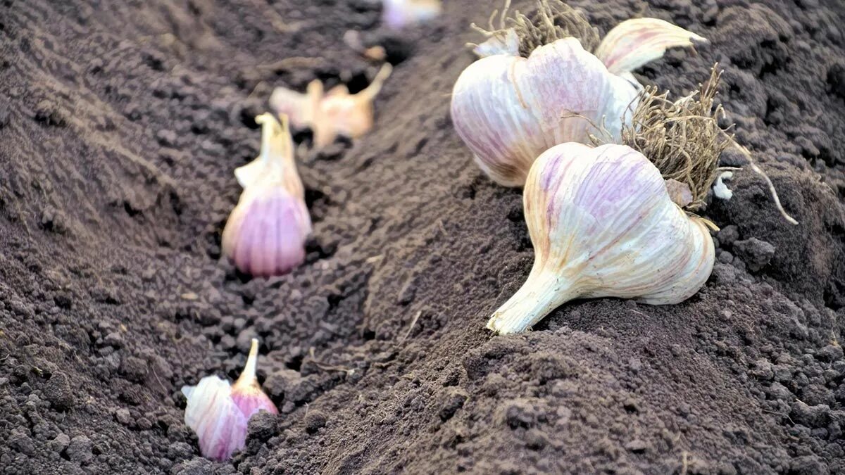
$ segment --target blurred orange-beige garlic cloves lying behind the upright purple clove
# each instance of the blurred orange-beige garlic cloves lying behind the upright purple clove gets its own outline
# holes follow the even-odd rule
[[[330,145],[338,135],[357,139],[373,128],[373,99],[392,70],[385,63],[367,89],[357,94],[349,94],[346,85],[324,92],[319,79],[308,84],[305,94],[279,87],[270,95],[270,107],[290,117],[294,127],[310,127],[317,148]]]

